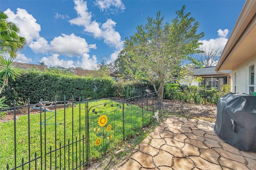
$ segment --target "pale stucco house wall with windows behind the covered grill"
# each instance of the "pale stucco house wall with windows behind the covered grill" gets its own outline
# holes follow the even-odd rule
[[[236,73],[236,93],[249,94],[248,67],[253,64],[254,71],[256,71],[256,55],[254,55],[250,59],[244,61],[243,63],[232,69],[232,92],[235,92],[234,74]],[[254,85],[256,85],[256,75],[254,75]],[[254,87],[254,91],[256,91],[256,86]]]

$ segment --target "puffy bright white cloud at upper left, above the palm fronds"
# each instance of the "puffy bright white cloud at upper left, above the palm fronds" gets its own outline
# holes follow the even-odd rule
[[[36,19],[24,9],[17,8],[14,14],[9,8],[4,11],[10,21],[20,28],[21,36],[26,38],[27,44],[39,38],[41,26],[36,23]]]

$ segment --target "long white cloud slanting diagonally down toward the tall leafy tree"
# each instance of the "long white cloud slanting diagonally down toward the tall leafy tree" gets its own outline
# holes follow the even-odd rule
[[[116,22],[112,19],[108,19],[101,25],[95,20],[92,21],[92,13],[88,12],[87,3],[83,0],[74,0],[74,3],[74,9],[76,10],[78,17],[69,20],[70,24],[83,26],[85,32],[92,33],[94,38],[104,39],[104,43],[110,47],[114,47],[117,51],[120,51],[123,48],[121,36],[114,28]]]

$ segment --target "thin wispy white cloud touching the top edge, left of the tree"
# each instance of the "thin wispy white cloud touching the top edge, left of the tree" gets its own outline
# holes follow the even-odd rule
[[[112,13],[118,11],[118,9],[120,9],[121,11],[124,11],[125,9],[122,0],[96,0],[94,2],[94,5],[98,6],[98,8],[100,8],[100,10],[102,11],[110,10],[110,12]]]

